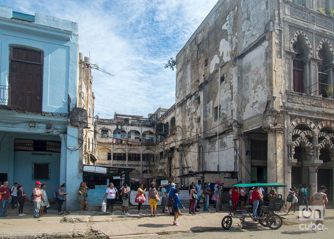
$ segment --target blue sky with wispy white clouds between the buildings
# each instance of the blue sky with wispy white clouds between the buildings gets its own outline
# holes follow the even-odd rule
[[[79,51],[115,77],[92,70],[95,115],[143,115],[175,103],[176,71],[165,69],[217,0],[22,1],[0,5],[79,24]]]

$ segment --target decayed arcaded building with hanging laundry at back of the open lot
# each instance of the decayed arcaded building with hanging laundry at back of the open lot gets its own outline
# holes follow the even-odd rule
[[[131,183],[149,185],[149,178],[170,176],[167,158],[171,155],[164,142],[173,147],[174,126],[174,106],[158,108],[148,118],[115,113],[113,119],[97,119],[97,164],[126,169],[130,175],[123,180]],[[116,185],[121,183],[118,176],[108,178]]]

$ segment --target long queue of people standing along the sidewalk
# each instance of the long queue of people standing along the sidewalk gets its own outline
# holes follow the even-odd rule
[[[240,181],[239,184],[242,182]],[[182,189],[187,189],[189,192],[189,214],[197,215],[196,212],[199,212],[200,209],[199,203],[202,199],[204,201],[203,212],[208,211],[209,205],[209,196],[212,194],[211,200],[214,201],[214,209],[216,212],[222,210],[221,203],[222,203],[222,192],[224,184],[220,183],[219,180],[216,181],[216,184],[210,187],[209,182],[204,183],[204,187],[202,188],[202,181],[198,180],[197,184],[192,182],[189,187],[182,187]],[[25,192],[23,191],[23,186],[14,183],[13,187],[9,188],[8,181],[5,181],[3,185],[0,182],[0,217],[8,217],[7,214],[7,207],[9,204],[10,199],[12,199],[11,203],[11,210],[18,209],[18,216],[26,216],[23,213],[24,204],[29,202],[30,199],[33,202],[33,217],[40,218],[47,213],[47,208],[49,208],[50,204],[48,201],[48,197],[46,194],[46,184],[41,184],[39,181],[35,182],[35,188],[31,194],[31,198],[29,199]],[[155,182],[151,183],[150,188],[143,187],[143,184],[139,184],[137,195],[136,195],[136,202],[138,203],[138,215],[142,215],[141,207],[142,204],[145,202],[145,192],[148,190],[148,202],[150,204],[150,217],[157,217],[156,208],[157,203],[161,200],[162,212],[168,213],[170,216],[174,216],[173,225],[179,226],[177,220],[181,215],[181,210],[185,210],[185,207],[182,205],[179,193],[180,188],[177,188],[178,185],[172,183],[170,185],[162,185],[158,189],[156,189]],[[162,195],[159,194],[161,191]],[[325,206],[328,203],[327,195],[325,192],[327,191],[325,186],[320,187],[320,191],[316,194],[313,194],[310,198],[310,205],[320,205]],[[78,188],[77,193],[77,201],[79,202],[80,213],[83,213],[84,210],[87,212],[91,212],[89,210],[88,205],[88,192],[89,188],[87,187],[86,182],[81,182]],[[130,201],[130,193],[131,189],[127,183],[123,184],[123,187],[120,188],[118,191],[113,183],[109,184],[109,187],[106,189],[103,201],[107,200],[106,204],[106,212],[107,214],[115,215],[114,214],[114,205],[116,200],[120,197],[122,198],[122,212],[121,214],[130,215],[128,212],[128,206]],[[65,192],[65,184],[62,184],[59,189],[57,189],[53,193],[53,197],[55,198],[58,204],[58,215],[64,214],[61,212],[61,208],[64,202],[66,202],[66,195]],[[161,199],[160,199],[161,196]],[[252,212],[252,216],[254,218],[258,218],[261,216],[261,208],[260,205],[271,201],[272,198],[277,197],[277,193],[275,189],[270,190],[268,194],[265,194],[265,190],[262,187],[253,187],[249,189],[247,193],[244,187],[232,187],[229,190],[229,198],[227,199],[230,202],[230,206],[233,210],[240,208],[243,210],[245,202],[248,201],[249,204],[252,206],[249,210]],[[290,211],[293,210],[292,215],[295,215],[297,205],[303,205],[308,208],[308,185],[299,185],[299,189],[294,187],[289,189],[289,196],[287,198],[287,202],[290,202],[291,205],[288,209],[287,215]],[[325,207],[324,207],[325,208]],[[321,230],[328,230],[324,227],[323,221],[317,221],[315,225],[312,226],[312,230],[317,232],[316,226],[321,224]]]

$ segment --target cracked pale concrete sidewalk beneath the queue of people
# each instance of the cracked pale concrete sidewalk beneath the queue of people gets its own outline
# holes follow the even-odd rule
[[[186,206],[186,205],[185,205]],[[210,205],[211,206],[211,205]],[[9,210],[9,217],[1,219],[0,239],[35,239],[35,238],[70,238],[70,237],[96,237],[106,236],[114,238],[120,235],[133,234],[152,234],[152,233],[174,233],[187,231],[208,231],[223,230],[221,227],[222,218],[227,215],[227,211],[215,212],[196,212],[197,216],[189,215],[188,209],[182,210],[182,215],[178,222],[180,226],[173,226],[173,217],[169,213],[160,213],[161,208],[157,208],[157,218],[150,218],[149,208],[142,208],[144,215],[137,215],[137,207],[130,206],[131,216],[121,215],[120,206],[115,207],[115,216],[104,212],[96,211],[92,213],[79,213],[79,211],[67,212],[65,216],[58,216],[57,211],[49,209],[47,215],[39,219],[33,219],[32,212],[25,212],[27,216],[18,217],[16,211]],[[203,210],[201,208],[200,210]],[[284,212],[278,213],[283,217],[283,226],[299,224],[299,213],[296,215],[285,215]],[[325,220],[334,219],[334,210],[326,210]],[[238,219],[232,219],[232,228],[241,228]],[[252,221],[247,221],[247,226],[260,226]],[[246,227],[244,227],[245,229]]]

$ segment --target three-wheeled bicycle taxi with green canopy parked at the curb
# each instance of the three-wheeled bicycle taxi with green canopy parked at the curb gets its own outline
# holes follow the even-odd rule
[[[236,184],[232,187],[271,187],[271,188],[284,188],[286,185],[280,183],[272,184]],[[252,213],[249,212],[249,209],[252,208],[251,205],[246,205],[244,210],[233,210],[233,207],[230,205],[227,216],[221,220],[221,226],[224,229],[229,229],[232,225],[232,217],[236,217],[243,224],[246,218],[260,223],[264,227],[269,227],[270,229],[279,229],[282,226],[283,220],[282,217],[277,215],[276,212],[281,211],[284,205],[284,200],[281,194],[278,194],[277,197],[273,197],[269,203],[264,203],[260,206],[262,213],[260,217],[253,217]]]

